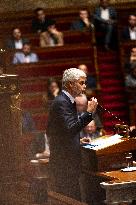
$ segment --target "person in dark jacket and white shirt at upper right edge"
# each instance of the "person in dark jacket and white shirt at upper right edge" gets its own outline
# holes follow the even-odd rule
[[[123,29],[123,40],[136,40],[136,15],[129,15],[128,26]]]

